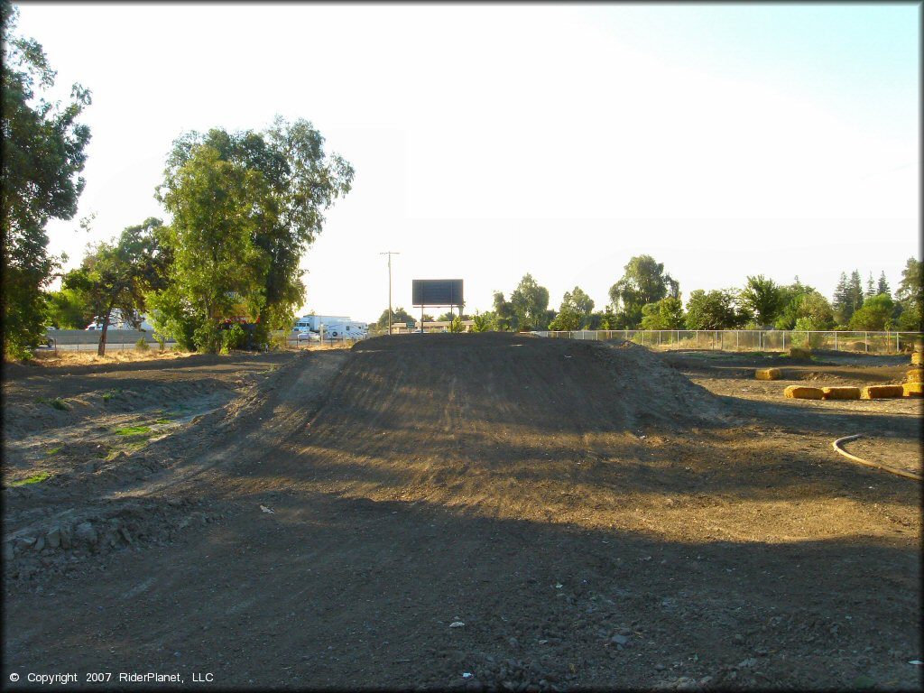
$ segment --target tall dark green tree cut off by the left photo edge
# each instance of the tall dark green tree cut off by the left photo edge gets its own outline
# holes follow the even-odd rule
[[[45,226],[51,219],[72,219],[84,180],[84,150],[90,128],[77,122],[90,105],[90,91],[71,88],[71,101],[49,103],[35,90],[55,85],[55,70],[42,45],[12,35],[18,9],[0,0],[3,29],[3,109],[0,129],[0,303],[5,350],[23,357],[44,332],[44,299],[59,266],[49,257]]]

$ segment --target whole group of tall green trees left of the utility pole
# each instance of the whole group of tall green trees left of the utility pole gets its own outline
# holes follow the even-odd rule
[[[47,324],[100,320],[103,354],[116,311],[136,328],[148,312],[162,340],[206,352],[240,346],[245,327],[258,343],[287,330],[305,300],[301,255],[321,233],[324,211],[349,192],[353,167],[325,154],[321,133],[303,119],[184,133],[154,191],[173,221],[128,226],[61,273],[67,256],[48,254],[45,225],[77,211],[90,140],[77,118],[90,92],[74,85],[66,105],[37,97],[54,86],[55,71],[41,44],[13,35],[17,8],[8,0],[0,8],[5,353],[27,357]],[[61,289],[47,290],[55,277]]]

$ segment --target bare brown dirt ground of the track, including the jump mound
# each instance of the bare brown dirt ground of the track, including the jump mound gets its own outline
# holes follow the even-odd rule
[[[783,398],[906,362],[415,334],[7,366],[3,681],[920,689],[921,484],[831,443],[919,469],[921,401]]]

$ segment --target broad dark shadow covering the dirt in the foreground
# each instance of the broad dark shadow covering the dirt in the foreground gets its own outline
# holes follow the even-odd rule
[[[44,597],[68,624],[55,642],[9,604],[7,661],[83,671],[115,649],[127,667],[230,687],[447,687],[464,672],[541,689],[918,682],[918,554],[870,537],[661,541],[292,491],[225,510],[171,549],[170,570],[126,552],[80,577],[95,609]]]

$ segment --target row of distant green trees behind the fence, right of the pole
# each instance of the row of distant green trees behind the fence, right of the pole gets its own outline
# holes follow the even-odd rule
[[[579,286],[565,291],[558,310],[549,308],[549,290],[525,274],[509,299],[493,294],[492,310],[462,315],[476,332],[529,330],[924,330],[922,263],[909,258],[894,295],[881,273],[872,274],[866,286],[854,270],[841,274],[831,300],[796,276],[780,285],[762,274],[748,276],[739,288],[696,289],[686,306],[680,284],[650,255],[630,259],[623,276],[609,290],[609,303],[595,303]],[[404,309],[392,313],[392,322],[415,322]],[[449,314],[441,320],[450,319]],[[432,320],[425,316],[425,320]],[[388,323],[384,310],[377,326]],[[458,325],[456,325],[458,329]]]

